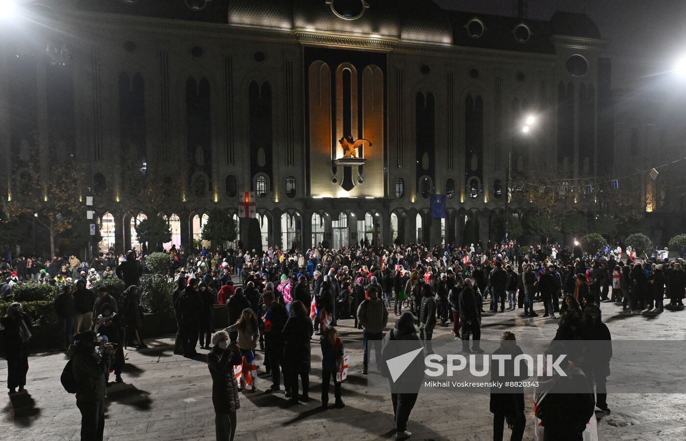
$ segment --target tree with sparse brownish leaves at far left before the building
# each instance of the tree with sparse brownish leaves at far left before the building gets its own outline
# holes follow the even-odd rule
[[[47,176],[34,174],[34,179],[21,188],[21,195],[8,204],[10,218],[33,215],[38,225],[47,229],[50,255],[54,256],[55,237],[83,216],[80,184],[84,181],[84,173],[73,160],[55,162]]]

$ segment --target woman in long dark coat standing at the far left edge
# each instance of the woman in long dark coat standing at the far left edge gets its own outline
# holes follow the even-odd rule
[[[10,394],[23,392],[26,373],[29,370],[29,339],[31,338],[31,317],[21,307],[21,303],[11,303],[7,314],[0,318],[3,330],[5,359],[7,359],[7,388]]]

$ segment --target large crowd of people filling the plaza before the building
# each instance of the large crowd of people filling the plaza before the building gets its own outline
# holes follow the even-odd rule
[[[534,318],[539,316],[538,303],[542,303],[539,312],[543,317],[552,320],[559,314],[554,337],[559,344],[602,340],[610,345],[609,351],[575,367],[585,374],[588,390],[580,394],[578,418],[560,420],[549,410],[560,405],[553,402],[554,394],[543,394],[547,398],[536,403],[546,440],[578,440],[589,419],[588,403],[591,414],[593,405],[610,412],[605,383],[611,336],[601,320],[602,305],[615,302],[630,314],[656,314],[663,311],[665,296],[668,307],[681,307],[686,290],[686,271],[680,259],[646,256],[639,260],[630,253],[622,256],[619,249],[589,254],[579,247],[554,244],[524,251],[514,242],[486,247],[374,247],[362,242],[340,249],[329,249],[323,243],[307,251],[294,246],[290,250],[242,251],[237,247],[186,253],[172,247],[168,254],[169,277],[177,287],[171,296],[178,324],[174,352],[196,359],[198,342],[200,349],[209,351],[217,440],[233,439],[239,390],[259,389],[258,348],[263,351],[265,373],[271,376],[264,392],[280,392],[283,379],[285,396],[294,404],[311,400],[311,342],[317,341],[322,354],[322,408],[329,408],[331,382],[334,407],[344,407],[338,375],[344,349],[336,328],[338,320],[353,319],[354,328],[362,330],[362,375],[366,375],[372,352],[377,368],[388,358],[384,352],[390,340],[416,340],[429,353],[436,326],[451,327],[464,353],[482,353],[484,316],[519,310],[524,318]],[[19,262],[26,261],[19,258]],[[75,288],[65,284],[55,301],[60,341],[64,348],[69,346],[73,377],[84,379],[84,389],[88,390],[77,393],[77,403],[101,403],[110,370],[115,373],[115,382],[122,381],[122,346],[135,340],[139,348],[145,348],[139,288],[145,260],[130,251],[121,260],[111,253],[89,262],[78,262],[75,257],[66,262],[54,259],[36,270],[34,267],[43,266],[43,262],[30,261],[21,265],[15,261],[12,267],[4,262],[0,271],[16,277],[15,283],[29,279],[54,283],[60,277],[75,281]],[[21,277],[20,267],[24,268]],[[32,277],[36,273],[38,277]],[[96,296],[88,289],[91,277],[120,277],[128,288],[115,295],[101,290]],[[226,305],[228,323],[226,329],[213,333],[214,305]],[[390,314],[396,320],[388,331]],[[15,388],[21,391],[26,383],[31,320],[19,303],[12,303],[2,323],[10,366],[8,388],[10,392]],[[504,333],[501,349],[517,351],[514,341],[514,333]],[[234,374],[238,368],[240,381]],[[504,419],[512,422],[511,440],[521,440],[523,391],[515,390],[507,397],[491,400],[494,440],[502,439]],[[416,399],[416,394],[392,394],[398,439],[410,438],[407,420]],[[82,437],[86,437],[82,439],[102,438],[102,405],[78,407],[83,416]],[[578,424],[584,418],[584,425]],[[549,433],[554,438],[549,438],[553,436]]]

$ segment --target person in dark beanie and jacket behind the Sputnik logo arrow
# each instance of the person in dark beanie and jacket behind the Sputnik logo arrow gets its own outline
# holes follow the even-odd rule
[[[412,436],[412,433],[407,431],[407,420],[410,419],[410,413],[419,396],[419,388],[424,381],[424,362],[423,357],[415,357],[410,366],[407,366],[395,381],[390,376],[387,362],[394,357],[407,353],[411,349],[410,346],[421,349],[421,340],[419,340],[417,330],[414,327],[417,320],[418,318],[412,312],[403,312],[400,314],[400,318],[395,320],[393,329],[386,333],[383,342],[381,342],[381,375],[388,378],[390,385],[397,440],[407,440]],[[394,344],[392,343],[394,340],[403,340],[405,343],[402,345]],[[394,384],[396,383],[403,384],[403,389],[409,388],[413,392],[395,392]]]

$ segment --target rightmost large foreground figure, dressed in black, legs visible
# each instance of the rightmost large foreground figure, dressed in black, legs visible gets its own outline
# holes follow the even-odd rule
[[[593,392],[593,383],[595,382],[596,407],[609,414],[606,383],[607,377],[610,375],[612,337],[607,325],[602,323],[598,305],[589,305],[584,311],[579,333],[580,340],[588,342],[581,368],[586,374],[591,392]]]

